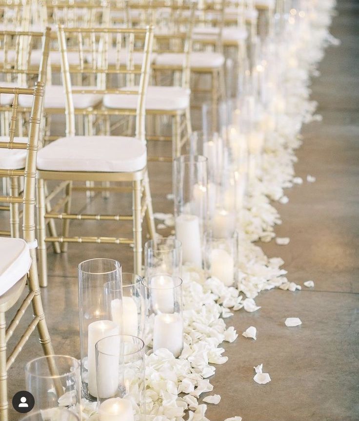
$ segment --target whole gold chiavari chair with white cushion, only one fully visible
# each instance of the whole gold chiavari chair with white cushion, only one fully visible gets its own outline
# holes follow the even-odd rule
[[[134,46],[144,41],[143,62],[141,69],[133,65],[131,59],[125,60],[124,66],[110,68],[108,66],[108,45],[116,42],[118,53],[121,47],[126,48],[129,56],[133,54]],[[147,175],[147,153],[145,144],[145,94],[148,85],[150,69],[150,52],[153,42],[153,28],[59,28],[59,43],[62,57],[62,75],[66,90],[66,134],[64,138],[54,140],[39,152],[38,156],[38,229],[39,229],[39,261],[41,266],[40,285],[47,284],[47,257],[45,241],[63,244],[68,242],[90,243],[134,243],[134,270],[141,273],[142,267],[142,219],[146,215],[151,238],[155,236],[151,193]],[[143,45],[143,44],[142,44]],[[77,50],[80,65],[69,65],[67,48]],[[87,57],[87,60],[83,60]],[[130,64],[132,63],[132,64]],[[136,110],[98,109],[96,114],[89,114],[102,120],[109,114],[132,116],[136,118],[135,137],[125,136],[76,136],[75,111],[73,95],[86,92],[86,87],[75,89],[72,87],[71,76],[81,75],[83,80],[92,82],[97,79],[94,93],[136,95],[138,105]],[[140,78],[139,90],[120,91],[120,88],[108,88],[107,80],[110,76]],[[83,110],[86,113],[86,110]],[[133,211],[131,215],[83,215],[70,213],[71,183],[66,184],[65,196],[53,206],[54,211],[45,212],[46,202],[43,183],[44,180],[70,181],[120,181],[130,182],[133,196]],[[88,189],[84,187],[84,189]],[[96,187],[91,187],[95,190]],[[111,186],[109,191],[121,191],[121,187]],[[122,189],[123,190],[123,189]],[[127,190],[128,191],[128,190]],[[60,193],[60,189],[57,190]],[[53,197],[51,195],[51,197]],[[61,212],[61,209],[64,211]],[[55,212],[55,210],[59,209]],[[46,237],[46,220],[60,219],[63,221],[63,231],[60,237]],[[69,222],[71,220],[92,221],[133,221],[133,238],[123,237],[71,237],[69,236]],[[65,251],[62,249],[62,251]]]

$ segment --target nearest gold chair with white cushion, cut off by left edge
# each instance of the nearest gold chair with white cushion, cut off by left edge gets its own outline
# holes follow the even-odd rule
[[[48,56],[48,33],[44,36],[43,60],[40,75],[46,72]],[[0,201],[23,205],[22,230],[23,239],[0,237],[0,420],[8,421],[7,401],[7,373],[21,349],[23,348],[35,328],[38,329],[40,343],[45,355],[52,355],[53,348],[48,332],[45,314],[40,296],[39,278],[36,262],[37,241],[35,237],[35,186],[36,159],[39,145],[40,120],[44,83],[38,81],[33,88],[10,88],[0,86],[0,103],[3,95],[12,95],[12,111],[9,136],[0,141],[0,151],[15,153],[16,150],[25,152],[24,169],[0,169],[0,175],[6,177],[23,177],[24,191],[22,196],[0,196]],[[19,97],[27,95],[33,98],[30,119],[28,122],[27,140],[17,139],[17,117]],[[10,160],[10,159],[9,159]],[[6,312],[19,300],[28,285],[28,293],[13,318],[6,327]],[[15,348],[7,356],[6,344],[13,336],[27,307],[32,305],[33,318],[17,342]]]

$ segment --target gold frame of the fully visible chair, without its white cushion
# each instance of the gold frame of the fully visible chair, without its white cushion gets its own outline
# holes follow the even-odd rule
[[[73,93],[94,92],[94,93],[121,93],[129,95],[138,95],[138,107],[136,110],[83,110],[83,113],[91,113],[96,116],[109,115],[130,115],[136,116],[136,138],[145,143],[145,91],[148,85],[149,69],[150,69],[150,51],[153,42],[153,27],[141,28],[63,28],[59,27],[59,44],[61,49],[61,65],[64,87],[66,91],[66,135],[75,135],[75,112],[72,100]],[[140,89],[139,91],[122,91],[116,88],[99,88],[93,91],[89,90],[74,90],[71,88],[70,66],[66,55],[66,36],[79,34],[138,34],[144,38],[144,56],[141,69],[131,68],[115,68],[109,69],[106,65],[103,68],[87,69],[83,68],[83,63],[78,68],[73,68],[74,73],[89,72],[93,74],[102,73],[108,74],[132,74],[140,75]],[[80,44],[79,44],[80,45]],[[133,48],[133,47],[132,47]],[[80,54],[82,54],[81,52]],[[100,144],[99,144],[100,147]],[[147,219],[147,225],[151,238],[155,237],[155,224],[153,218],[152,200],[149,187],[147,167],[140,171],[134,172],[72,172],[72,171],[47,171],[38,169],[38,236],[39,236],[39,264],[40,264],[40,286],[47,285],[47,255],[46,242],[60,242],[62,245],[61,251],[66,251],[66,245],[69,242],[89,242],[89,243],[112,243],[112,244],[131,244],[134,243],[134,271],[141,274],[142,271],[142,220],[144,216]],[[62,180],[60,185],[47,198],[44,192],[44,180]],[[65,180],[65,181],[63,181]],[[83,215],[71,214],[71,190],[73,181],[100,181],[103,184],[111,181],[117,182],[131,182],[133,196],[132,215]],[[102,187],[88,186],[84,187],[86,190],[96,191],[103,189]],[[46,212],[46,206],[57,194],[65,189],[65,196],[62,197],[58,203],[53,207],[53,211]],[[129,191],[126,187],[121,186],[106,186],[108,191]],[[63,208],[64,212],[58,212]],[[62,236],[46,237],[46,221],[59,219],[63,221]],[[123,237],[70,237],[69,236],[69,222],[71,220],[92,220],[92,221],[133,221],[133,238]]]

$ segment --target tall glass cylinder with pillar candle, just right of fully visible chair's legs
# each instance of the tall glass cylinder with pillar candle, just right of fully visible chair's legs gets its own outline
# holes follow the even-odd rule
[[[182,155],[174,160],[176,238],[183,263],[202,267],[203,236],[207,230],[207,158]]]

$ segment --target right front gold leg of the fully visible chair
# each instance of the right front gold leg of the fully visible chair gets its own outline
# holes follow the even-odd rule
[[[134,240],[134,273],[142,273],[142,222],[141,222],[141,181],[133,181],[132,187],[132,216],[133,216],[133,240]]]

